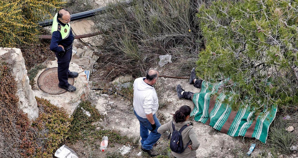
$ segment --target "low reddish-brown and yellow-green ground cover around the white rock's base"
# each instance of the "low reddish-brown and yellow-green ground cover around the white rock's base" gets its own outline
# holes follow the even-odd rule
[[[31,121],[18,108],[18,95],[11,62],[0,64],[0,157],[52,157],[67,138],[71,119],[45,99],[36,98],[39,117]]]

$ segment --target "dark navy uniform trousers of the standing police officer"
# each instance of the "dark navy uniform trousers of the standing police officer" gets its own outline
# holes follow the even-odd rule
[[[65,54],[60,57],[58,53],[55,52],[55,55],[58,59],[58,80],[60,86],[68,86],[68,75],[69,71],[69,63],[72,59],[72,46],[65,48]]]

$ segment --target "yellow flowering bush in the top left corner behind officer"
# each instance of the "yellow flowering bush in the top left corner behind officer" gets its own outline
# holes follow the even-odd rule
[[[38,21],[51,18],[63,0],[1,0],[0,47],[14,47],[37,40]]]

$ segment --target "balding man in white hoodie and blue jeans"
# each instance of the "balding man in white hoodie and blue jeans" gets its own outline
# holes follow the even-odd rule
[[[157,129],[161,126],[157,117],[158,97],[153,85],[158,79],[158,71],[151,69],[146,77],[134,80],[134,114],[140,122],[141,149],[150,156],[158,155],[153,145],[160,138],[161,134]],[[149,131],[151,131],[149,133]]]

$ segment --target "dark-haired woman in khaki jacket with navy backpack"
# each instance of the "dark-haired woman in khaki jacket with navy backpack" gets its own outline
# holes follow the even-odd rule
[[[184,151],[178,154],[176,152],[173,152],[172,150],[172,154],[176,158],[184,158],[184,157],[195,158],[196,150],[200,145],[198,143],[197,137],[195,136],[195,131],[193,129],[192,123],[190,121],[187,121],[187,119],[190,117],[190,112],[191,112],[191,108],[189,106],[187,105],[181,106],[180,109],[177,110],[176,113],[174,114],[173,120],[162,125],[157,130],[157,132],[162,134],[164,138],[171,140],[172,135],[170,135],[168,131],[173,133],[172,123],[174,124],[176,131],[179,131],[184,125],[187,125],[187,127],[183,129],[181,132],[183,148],[185,148]]]

